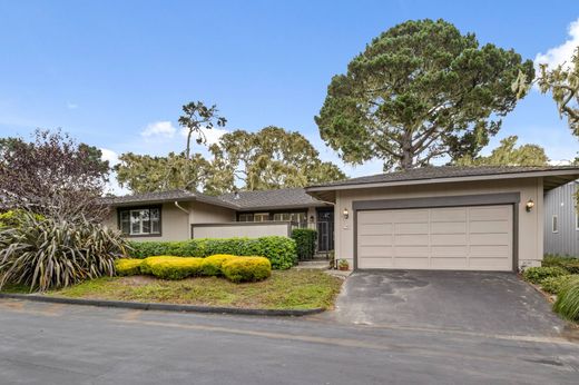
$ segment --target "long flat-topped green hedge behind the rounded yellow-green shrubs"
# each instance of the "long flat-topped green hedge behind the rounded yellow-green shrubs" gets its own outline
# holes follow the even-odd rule
[[[294,239],[272,236],[261,238],[190,239],[185,241],[131,241],[129,256],[147,258],[158,255],[205,258],[212,255],[261,256],[272,268],[288,269],[297,263]]]

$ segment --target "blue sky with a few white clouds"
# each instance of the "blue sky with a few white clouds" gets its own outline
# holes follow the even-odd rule
[[[2,0],[0,136],[61,127],[111,159],[163,155],[185,146],[180,106],[204,100],[218,105],[228,130],[298,130],[338,162],[313,120],[332,76],[380,32],[423,18],[443,18],[528,59],[548,53],[557,62],[579,45],[572,1]],[[504,119],[490,148],[509,135],[543,146],[555,161],[579,149],[537,91]],[[382,164],[344,168],[360,176]]]

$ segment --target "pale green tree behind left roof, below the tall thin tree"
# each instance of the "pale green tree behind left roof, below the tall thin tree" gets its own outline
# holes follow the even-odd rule
[[[171,189],[197,190],[203,188],[209,162],[195,154],[190,159],[184,154],[169,152],[166,157],[122,154],[115,166],[117,181],[134,194]]]

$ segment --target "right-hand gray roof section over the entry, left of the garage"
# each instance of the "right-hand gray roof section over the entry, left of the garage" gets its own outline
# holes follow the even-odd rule
[[[235,194],[225,194],[220,199],[237,205],[239,209],[251,210],[261,208],[291,208],[325,206],[326,204],[313,198],[303,188],[282,188],[265,191],[239,191],[239,198]]]

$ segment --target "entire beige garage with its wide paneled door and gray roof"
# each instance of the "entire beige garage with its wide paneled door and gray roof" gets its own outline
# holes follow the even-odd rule
[[[361,269],[517,270],[543,256],[543,194],[578,167],[426,167],[312,186]]]

